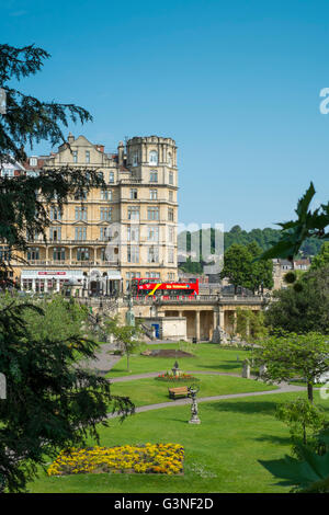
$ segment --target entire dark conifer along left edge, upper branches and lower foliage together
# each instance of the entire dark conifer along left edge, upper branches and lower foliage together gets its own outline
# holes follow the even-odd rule
[[[8,159],[24,160],[25,144],[64,140],[60,126],[67,126],[69,118],[91,119],[82,107],[45,103],[8,85],[12,78],[20,80],[38,71],[47,57],[33,46],[0,45],[0,84],[7,92],[7,112],[0,117],[0,165]],[[103,185],[102,176],[92,169],[1,178],[0,242],[10,251],[24,251],[35,232],[46,240],[49,206],[60,208],[70,195],[81,196]],[[2,276],[10,271],[10,255],[0,260]],[[129,399],[111,396],[105,378],[75,363],[77,353],[86,359],[94,357],[95,342],[83,339],[80,331],[64,336],[49,325],[41,337],[41,328],[33,332],[32,313],[38,320],[43,316],[38,306],[16,299],[0,309],[0,371],[8,386],[7,399],[0,401],[0,482],[9,491],[23,490],[46,455],[82,445],[88,434],[98,438],[97,424],[106,423],[111,402],[123,416],[134,409]]]

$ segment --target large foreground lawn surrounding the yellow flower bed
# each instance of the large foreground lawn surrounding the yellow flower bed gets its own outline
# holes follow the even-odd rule
[[[305,397],[305,393],[298,393]],[[122,424],[100,428],[101,445],[172,442],[185,448],[184,476],[79,474],[48,478],[44,472],[31,492],[104,493],[279,493],[290,488],[275,480],[259,459],[290,453],[287,427],[274,417],[279,402],[296,393],[266,394],[200,403],[201,425],[188,424],[190,407],[135,414]],[[318,394],[316,393],[316,398]],[[328,403],[322,403],[328,409]],[[92,442],[90,442],[92,445]]]

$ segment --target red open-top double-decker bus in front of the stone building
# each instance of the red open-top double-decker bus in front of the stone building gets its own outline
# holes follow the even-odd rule
[[[162,283],[160,278],[135,277],[132,279],[132,294],[135,296],[195,296],[198,295],[198,279],[195,283]]]

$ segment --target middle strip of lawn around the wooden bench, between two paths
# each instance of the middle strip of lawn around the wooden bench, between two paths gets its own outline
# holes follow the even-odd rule
[[[241,393],[251,391],[275,390],[277,387],[264,385],[253,379],[243,379],[230,376],[206,376],[197,375],[198,397],[225,396],[229,393]],[[192,384],[193,381],[191,381]],[[168,388],[182,386],[179,382],[169,384],[157,381],[155,378],[137,379],[126,382],[114,382],[111,392],[115,396],[126,396],[132,399],[136,407],[157,404],[174,400],[169,399]],[[183,385],[184,386],[184,385]]]

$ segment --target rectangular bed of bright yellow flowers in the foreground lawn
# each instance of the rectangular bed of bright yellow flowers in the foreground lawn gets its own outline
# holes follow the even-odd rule
[[[48,476],[73,473],[183,473],[184,448],[179,444],[123,445],[63,450]]]

